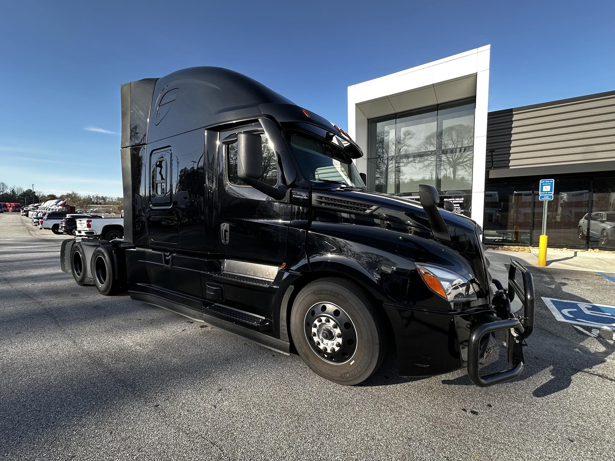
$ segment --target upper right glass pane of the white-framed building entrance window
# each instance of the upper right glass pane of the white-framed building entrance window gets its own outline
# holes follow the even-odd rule
[[[474,146],[474,101],[440,104],[438,149]]]

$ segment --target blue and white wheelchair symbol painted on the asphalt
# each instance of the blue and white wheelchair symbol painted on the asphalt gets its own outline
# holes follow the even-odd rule
[[[590,304],[543,297],[555,320],[615,330],[615,305]]]

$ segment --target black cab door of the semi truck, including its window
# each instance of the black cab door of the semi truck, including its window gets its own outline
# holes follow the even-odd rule
[[[224,303],[268,316],[275,294],[274,279],[284,262],[290,203],[271,199],[237,176],[237,133],[261,135],[263,176],[281,181],[278,159],[260,124],[220,133],[218,144],[218,249],[222,259]]]

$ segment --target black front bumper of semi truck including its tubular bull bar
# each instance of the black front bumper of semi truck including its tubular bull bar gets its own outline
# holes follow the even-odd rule
[[[523,288],[515,280],[523,277]],[[397,346],[400,376],[434,376],[467,366],[472,382],[485,387],[518,377],[523,371],[523,340],[534,326],[534,285],[530,271],[513,261],[509,288],[498,280],[492,304],[455,312],[435,312],[408,306],[383,304]],[[510,312],[515,293],[522,299],[523,317]],[[489,336],[506,342],[512,369],[481,377],[478,360],[488,347]],[[518,342],[515,342],[517,340]]]

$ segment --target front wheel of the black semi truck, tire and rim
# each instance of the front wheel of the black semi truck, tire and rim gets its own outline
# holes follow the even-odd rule
[[[343,278],[315,280],[297,294],[290,332],[309,368],[337,384],[363,382],[384,360],[378,316],[363,290]]]

